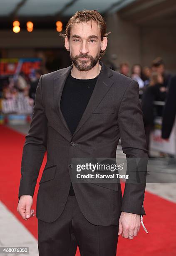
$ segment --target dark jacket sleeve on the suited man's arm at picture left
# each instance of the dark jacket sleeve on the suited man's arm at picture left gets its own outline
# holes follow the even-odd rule
[[[33,197],[37,177],[47,148],[47,118],[42,101],[42,76],[39,79],[30,130],[25,137],[22,152],[21,178],[18,198],[21,195]]]

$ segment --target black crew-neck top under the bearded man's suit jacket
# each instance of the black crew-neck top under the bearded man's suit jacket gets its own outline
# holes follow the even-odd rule
[[[93,79],[77,79],[70,73],[65,81],[60,109],[72,135],[87,107],[97,79],[98,76]],[[75,195],[72,184],[69,195]]]

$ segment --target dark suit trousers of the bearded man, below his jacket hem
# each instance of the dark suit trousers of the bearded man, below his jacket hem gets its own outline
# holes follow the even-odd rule
[[[76,196],[68,196],[62,214],[52,223],[38,219],[39,256],[116,256],[119,225],[99,226],[82,214]]]

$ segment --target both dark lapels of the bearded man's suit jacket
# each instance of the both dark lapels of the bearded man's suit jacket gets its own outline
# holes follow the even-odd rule
[[[102,65],[101,71],[99,73],[99,77],[95,84],[95,87],[94,87],[94,90],[90,97],[90,100],[87,104],[87,107],[84,110],[82,118],[80,119],[73,135],[70,132],[67,122],[66,122],[64,116],[62,115],[62,111],[60,109],[60,101],[61,101],[62,91],[64,89],[64,84],[69,75],[69,72],[72,69],[72,65],[69,66],[61,74],[59,74],[57,77],[54,78],[55,110],[56,110],[57,114],[59,115],[59,118],[62,121],[62,123],[64,124],[65,128],[67,129],[66,133],[64,134],[64,137],[67,137],[68,140],[70,140],[79,131],[79,129],[82,127],[82,125],[87,121],[89,116],[93,113],[94,109],[97,108],[97,106],[102,101],[104,96],[107,94],[108,90],[110,89],[110,87],[112,86],[112,84],[114,82],[112,70],[109,69],[108,67],[106,67],[102,63],[102,61],[99,61],[99,64]]]

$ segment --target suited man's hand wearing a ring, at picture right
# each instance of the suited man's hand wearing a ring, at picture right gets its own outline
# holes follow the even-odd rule
[[[137,236],[141,226],[140,215],[121,212],[119,218],[119,233],[123,238],[133,239],[134,236]],[[134,236],[129,236],[134,235]]]

